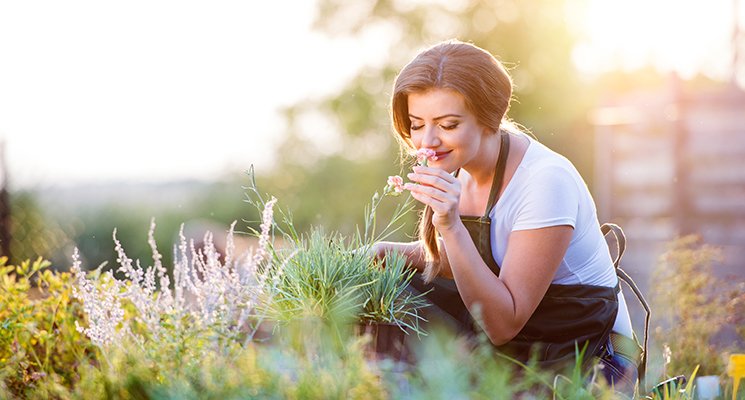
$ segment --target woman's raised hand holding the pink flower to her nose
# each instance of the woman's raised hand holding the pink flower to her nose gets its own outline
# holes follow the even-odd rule
[[[414,183],[404,188],[416,200],[432,207],[432,224],[440,232],[445,232],[460,222],[460,182],[451,174],[439,168],[415,166],[414,172],[407,175]]]

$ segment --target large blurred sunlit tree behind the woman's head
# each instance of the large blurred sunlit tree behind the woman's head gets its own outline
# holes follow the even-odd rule
[[[388,112],[397,72],[419,49],[458,38],[491,51],[511,69],[517,101],[510,117],[591,176],[589,96],[572,64],[575,33],[567,14],[569,2],[581,1],[321,0],[316,29],[353,37],[384,32],[379,37],[388,54],[338,93],[288,107],[277,168],[257,175],[266,178],[267,188],[296,194],[285,200],[300,228],[312,223],[348,228],[361,221],[369,196],[386,175],[401,170]],[[305,123],[309,120],[326,121],[320,125],[334,127],[336,136],[328,139],[329,132],[315,131],[319,124]]]

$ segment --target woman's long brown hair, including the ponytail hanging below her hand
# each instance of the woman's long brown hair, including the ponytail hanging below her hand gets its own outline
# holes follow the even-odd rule
[[[391,110],[393,128],[404,149],[415,150],[411,141],[408,98],[431,89],[451,89],[465,99],[469,112],[488,131],[499,132],[512,98],[512,79],[493,55],[470,43],[450,40],[419,53],[407,64],[393,86]],[[441,271],[437,231],[427,206],[419,220],[419,240],[424,244],[429,282]]]

